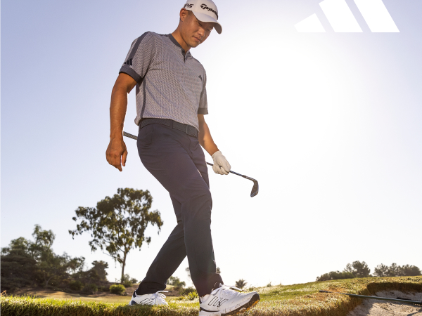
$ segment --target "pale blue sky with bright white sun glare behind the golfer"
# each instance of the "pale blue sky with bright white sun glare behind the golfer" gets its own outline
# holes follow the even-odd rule
[[[206,121],[232,170],[210,172],[212,237],[225,284],[313,282],[347,263],[416,265],[422,220],[422,2],[384,0],[399,32],[335,32],[319,0],[215,1],[221,35],[192,49],[207,71]],[[1,1],[1,246],[53,230],[56,253],[120,265],[72,237],[75,209],[119,187],[150,190],[164,225],[126,272],[143,279],[176,225],[140,162],[106,162],[110,93],[130,44],[169,34],[184,1]],[[316,14],[326,32],[298,32]],[[124,131],[136,134],[134,93]],[[207,161],[212,159],[206,154]],[[174,276],[192,285],[181,263]]]

